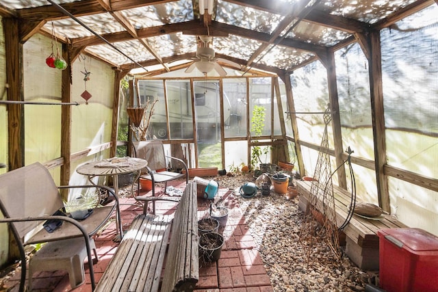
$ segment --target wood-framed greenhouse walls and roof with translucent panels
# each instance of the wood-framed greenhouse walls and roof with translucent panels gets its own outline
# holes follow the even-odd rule
[[[438,236],[437,0],[201,2],[0,1],[0,174],[81,185],[79,165],[132,156],[127,107],[157,101],[146,139],[189,168],[299,179],[325,155],[333,185]],[[0,243],[4,266],[3,223]]]

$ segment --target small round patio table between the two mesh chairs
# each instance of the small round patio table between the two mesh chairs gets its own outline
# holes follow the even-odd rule
[[[76,169],[78,174],[83,174],[88,176],[88,181],[91,181],[93,176],[112,176],[114,193],[116,194],[116,200],[118,201],[118,175],[127,174],[131,172],[139,172],[142,168],[148,165],[148,161],[140,158],[133,157],[123,157],[117,158],[113,157],[110,159],[103,159],[100,161],[92,161],[79,165]],[[139,172],[140,174],[140,172]],[[94,183],[92,183],[94,185]],[[114,241],[119,241],[123,237],[122,220],[120,217],[120,207],[117,204],[117,214],[116,214],[116,226],[120,237],[116,236]]]

